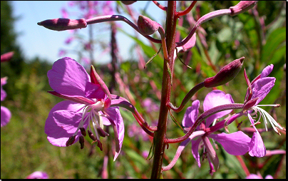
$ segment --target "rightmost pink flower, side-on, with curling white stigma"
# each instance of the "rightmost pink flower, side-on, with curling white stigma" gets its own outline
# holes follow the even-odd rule
[[[245,72],[245,78],[248,83],[248,90],[245,98],[245,106],[243,112],[249,118],[255,132],[253,133],[252,140],[250,143],[249,155],[252,157],[264,157],[266,155],[266,148],[264,146],[261,135],[259,134],[255,124],[259,122],[260,118],[263,117],[264,125],[267,130],[267,120],[271,123],[273,129],[276,133],[279,133],[279,129],[285,130],[282,128],[279,123],[272,118],[269,113],[264,109],[259,108],[259,106],[279,106],[279,105],[259,105],[259,103],[266,97],[266,95],[273,88],[276,78],[267,77],[269,73],[273,70],[273,65],[267,66],[263,69],[262,73],[255,78],[252,83],[250,83]],[[259,119],[255,122],[254,118],[257,118],[257,113],[259,112]],[[253,117],[252,117],[253,116]],[[279,129],[278,129],[279,128]]]

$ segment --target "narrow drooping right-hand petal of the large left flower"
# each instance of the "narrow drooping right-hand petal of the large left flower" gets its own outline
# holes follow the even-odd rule
[[[113,161],[115,161],[121,151],[122,143],[124,140],[124,123],[118,107],[110,107],[106,110],[106,113],[108,113],[110,119],[113,120],[117,129],[117,133],[114,133],[116,149]]]

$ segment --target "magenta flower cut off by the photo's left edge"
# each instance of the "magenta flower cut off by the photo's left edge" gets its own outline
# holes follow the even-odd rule
[[[6,98],[6,91],[2,88],[7,83],[7,78],[1,78],[1,101]],[[8,108],[1,105],[1,127],[9,123],[11,119],[11,112]]]

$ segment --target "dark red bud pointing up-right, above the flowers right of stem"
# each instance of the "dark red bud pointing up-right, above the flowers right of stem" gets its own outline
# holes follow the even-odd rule
[[[241,58],[228,63],[226,66],[221,68],[215,76],[206,78],[204,80],[205,88],[221,86],[235,78],[242,68],[244,58],[245,57],[242,56]]]

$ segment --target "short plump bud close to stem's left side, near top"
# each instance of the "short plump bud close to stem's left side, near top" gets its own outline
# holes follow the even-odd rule
[[[149,19],[146,16],[140,15],[137,21],[138,29],[143,35],[151,35],[159,29],[159,24],[156,21]]]

